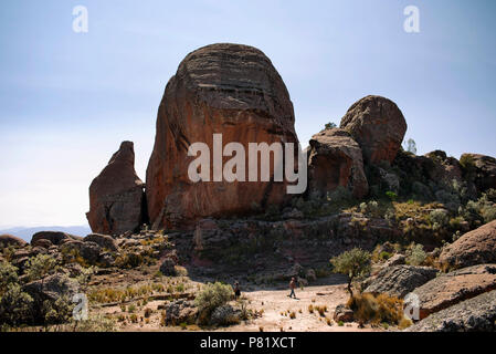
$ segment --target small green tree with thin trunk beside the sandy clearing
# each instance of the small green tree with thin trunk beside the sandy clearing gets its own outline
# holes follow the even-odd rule
[[[351,282],[355,278],[370,272],[370,252],[360,248],[353,248],[351,251],[346,251],[330,260],[336,272],[348,275],[348,291],[351,298],[353,296]]]

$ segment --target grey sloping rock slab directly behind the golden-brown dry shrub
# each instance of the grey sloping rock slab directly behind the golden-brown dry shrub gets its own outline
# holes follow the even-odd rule
[[[384,268],[363,292],[386,293],[389,296],[404,298],[415,288],[433,279],[436,273],[436,269],[428,267],[393,266]]]

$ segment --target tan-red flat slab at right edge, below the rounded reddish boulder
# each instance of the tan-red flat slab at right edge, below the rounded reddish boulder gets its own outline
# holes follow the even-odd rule
[[[420,301],[420,319],[463,300],[496,289],[496,264],[464,268],[426,282],[413,292]]]

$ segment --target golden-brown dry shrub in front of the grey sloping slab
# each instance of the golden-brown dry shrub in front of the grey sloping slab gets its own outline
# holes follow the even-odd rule
[[[377,296],[365,293],[350,298],[348,308],[353,310],[353,316],[358,322],[371,322],[374,324],[398,324],[403,319],[403,302],[398,298],[386,294]]]

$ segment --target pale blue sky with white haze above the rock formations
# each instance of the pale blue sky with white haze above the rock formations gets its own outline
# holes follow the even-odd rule
[[[403,29],[408,6],[418,33]],[[218,42],[271,59],[303,147],[377,94],[403,112],[419,155],[496,156],[495,14],[493,0],[2,1],[0,228],[85,225],[89,184],[122,140],[145,180],[168,80]]]

